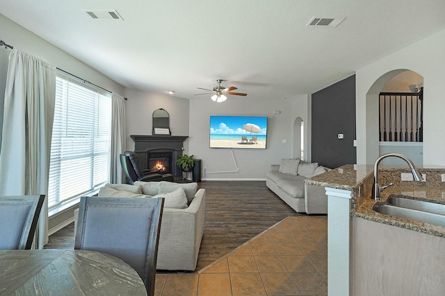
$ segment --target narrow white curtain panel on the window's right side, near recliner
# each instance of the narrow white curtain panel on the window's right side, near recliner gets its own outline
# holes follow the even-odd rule
[[[125,104],[124,97],[113,94],[111,107],[111,162],[110,182],[122,183],[122,166],[119,155],[125,149]]]

